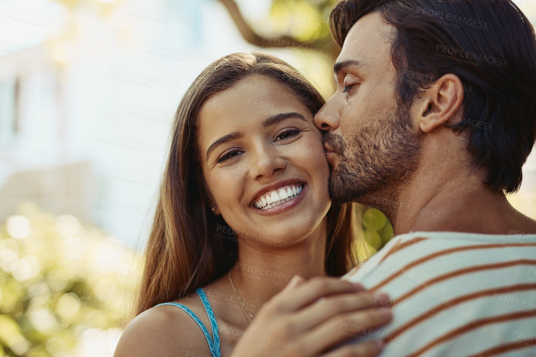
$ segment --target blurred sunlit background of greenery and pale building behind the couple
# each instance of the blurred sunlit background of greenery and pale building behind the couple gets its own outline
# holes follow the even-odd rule
[[[536,23],[536,0],[516,3]],[[0,357],[113,355],[182,94],[214,59],[263,49],[329,98],[333,4],[0,1]],[[524,174],[509,200],[536,218],[533,154]],[[392,236],[361,212],[356,261]]]

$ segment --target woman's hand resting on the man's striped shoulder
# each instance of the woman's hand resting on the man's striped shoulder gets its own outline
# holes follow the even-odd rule
[[[374,308],[388,296],[338,278],[301,281],[294,277],[268,302],[270,310],[259,311],[232,357],[372,357],[381,351],[379,341],[334,347],[390,322],[390,310]]]

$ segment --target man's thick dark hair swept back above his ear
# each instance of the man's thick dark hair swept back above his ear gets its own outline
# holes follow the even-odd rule
[[[331,12],[333,39],[343,46],[352,26],[379,12],[396,27],[391,57],[398,100],[411,105],[446,73],[464,85],[473,165],[493,190],[515,192],[536,138],[536,38],[511,0],[345,0]]]

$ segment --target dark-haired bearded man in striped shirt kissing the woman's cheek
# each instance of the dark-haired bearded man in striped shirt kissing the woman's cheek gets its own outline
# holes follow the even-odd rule
[[[505,197],[536,137],[529,20],[511,0],[346,0],[331,31],[330,194],[396,234],[345,276],[392,299],[364,336],[382,356],[536,355],[536,222]]]

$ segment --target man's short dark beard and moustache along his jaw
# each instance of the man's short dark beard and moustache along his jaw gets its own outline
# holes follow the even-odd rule
[[[369,123],[347,140],[330,132],[324,135],[323,142],[333,147],[339,160],[331,173],[330,196],[337,203],[373,206],[394,219],[389,213],[396,210],[404,176],[418,165],[420,147],[414,143],[418,135],[412,131],[405,106],[397,106],[388,117],[371,118]]]

